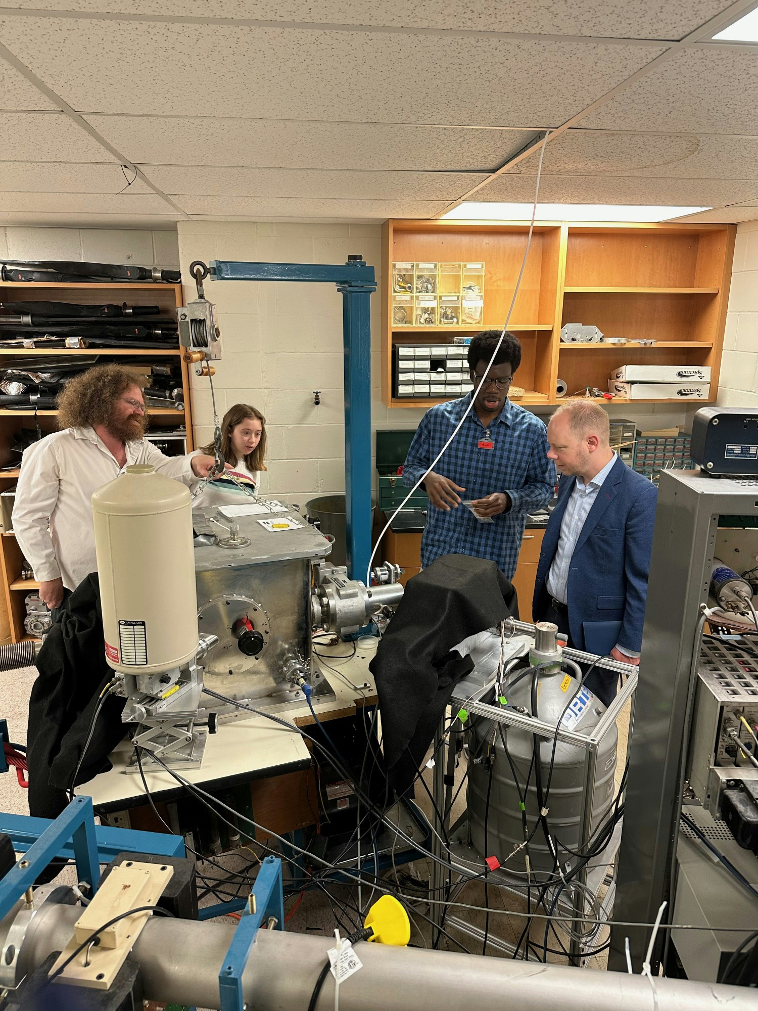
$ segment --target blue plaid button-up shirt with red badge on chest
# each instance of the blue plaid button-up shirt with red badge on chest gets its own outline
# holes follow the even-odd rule
[[[476,412],[469,409],[471,399],[469,393],[427,411],[410,444],[402,479],[406,487],[415,484],[468,411],[434,471],[464,487],[460,495],[466,501],[504,491],[511,507],[507,513],[493,517],[493,523],[481,523],[464,505],[447,512],[430,502],[421,539],[421,565],[431,565],[441,555],[474,555],[495,562],[510,579],[518,560],[527,514],[547,505],[553,497],[556,475],[547,457],[547,430],[539,418],[507,399],[497,418],[485,428]],[[491,442],[492,449],[482,448],[480,442]]]

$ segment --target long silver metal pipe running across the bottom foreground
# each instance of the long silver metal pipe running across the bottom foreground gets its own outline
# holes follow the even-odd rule
[[[40,910],[28,946],[26,973],[53,951],[65,947],[81,908]],[[0,942],[9,915],[0,923]],[[218,971],[234,933],[233,926],[154,917],[132,949],[139,962],[145,997],[168,1003],[219,1007]],[[260,930],[243,977],[246,1002],[256,1011],[305,1011],[313,985],[334,945],[328,937]],[[626,973],[603,973],[544,966],[506,958],[381,944],[357,945],[363,969],[340,988],[343,1011],[460,1011],[465,1001],[478,1011],[754,1011],[755,991],[688,980],[651,981]],[[652,987],[655,987],[655,995]],[[316,1007],[334,1004],[327,979]]]

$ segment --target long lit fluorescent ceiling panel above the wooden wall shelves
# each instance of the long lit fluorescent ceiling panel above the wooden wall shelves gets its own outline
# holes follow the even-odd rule
[[[443,214],[448,220],[524,221],[532,218],[531,203],[464,200]],[[710,207],[645,207],[625,203],[538,203],[536,221],[670,221]]]

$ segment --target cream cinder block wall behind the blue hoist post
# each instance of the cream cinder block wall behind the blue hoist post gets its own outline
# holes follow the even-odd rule
[[[360,253],[381,278],[381,226],[182,221],[179,249],[185,300],[193,260],[344,263]],[[290,503],[345,490],[342,295],[334,285],[225,281],[208,283],[219,312],[223,358],[214,385],[219,417],[232,403],[266,416],[269,471],[262,491]],[[381,400],[379,297],[372,296],[372,431],[415,428],[420,409],[391,410]],[[211,438],[207,379],[193,375],[197,444]],[[313,390],[320,390],[320,404]],[[372,440],[373,442],[373,440]],[[372,446],[373,454],[373,446]]]

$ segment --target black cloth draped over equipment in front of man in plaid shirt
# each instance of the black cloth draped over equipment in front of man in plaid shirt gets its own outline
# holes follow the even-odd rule
[[[518,615],[515,590],[494,562],[444,555],[408,580],[369,665],[398,794],[412,784],[456,682],[473,669],[453,647],[510,615]]]

